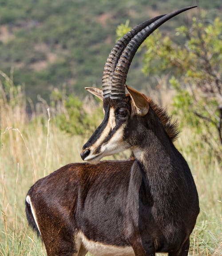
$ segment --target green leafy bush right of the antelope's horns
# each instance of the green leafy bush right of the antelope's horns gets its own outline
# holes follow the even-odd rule
[[[146,41],[143,67],[147,74],[172,74],[170,83],[177,92],[174,114],[182,115],[183,125],[195,126],[212,146],[222,143],[221,28],[219,18],[193,18],[190,28],[176,29],[184,45],[158,31]]]

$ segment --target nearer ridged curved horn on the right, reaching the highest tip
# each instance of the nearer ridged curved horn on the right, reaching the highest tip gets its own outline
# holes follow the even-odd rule
[[[131,61],[137,49],[143,43],[143,41],[167,20],[171,19],[172,17],[178,15],[181,12],[185,12],[195,7],[197,6],[189,6],[174,12],[170,12],[160,17],[158,20],[155,20],[153,23],[149,24],[146,28],[143,28],[131,39],[127,47],[123,50],[123,53],[119,58],[118,64],[116,65],[113,78],[112,78],[110,98],[112,99],[125,98],[125,83],[127,80],[127,73],[130,68]]]

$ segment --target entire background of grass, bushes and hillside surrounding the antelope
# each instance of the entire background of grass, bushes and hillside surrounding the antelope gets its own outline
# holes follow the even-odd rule
[[[126,19],[137,24],[182,6],[175,0],[150,1],[146,8],[142,0],[24,2],[0,3],[2,256],[46,256],[41,240],[28,227],[25,195],[37,179],[81,162],[80,150],[103,118],[101,102],[81,92],[86,85],[100,86],[117,25],[123,23],[117,28],[119,37],[131,24]],[[220,7],[220,1],[200,4]],[[130,86],[167,105],[180,124],[175,144],[190,166],[201,208],[190,256],[222,254],[222,24],[216,16],[198,13],[193,20],[187,18],[185,26],[179,20],[166,24],[166,29],[172,24],[174,28],[170,33],[161,29],[144,42],[127,79]],[[4,39],[2,29],[8,33]],[[136,75],[142,68],[143,75]],[[128,157],[124,152],[110,159]]]

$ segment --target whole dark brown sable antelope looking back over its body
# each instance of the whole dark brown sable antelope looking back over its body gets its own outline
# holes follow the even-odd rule
[[[127,87],[139,45],[188,7],[140,24],[112,49],[103,71],[104,119],[81,157],[38,180],[28,191],[28,223],[48,256],[186,256],[199,213],[190,169],[175,148],[176,123],[151,98]],[[103,161],[130,148],[135,160]]]

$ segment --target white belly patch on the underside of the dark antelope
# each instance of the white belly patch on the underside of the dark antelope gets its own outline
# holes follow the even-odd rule
[[[131,246],[115,246],[104,244],[100,242],[95,242],[87,239],[87,237],[79,232],[77,239],[82,241],[83,246],[93,255],[97,256],[135,256],[133,248]]]

